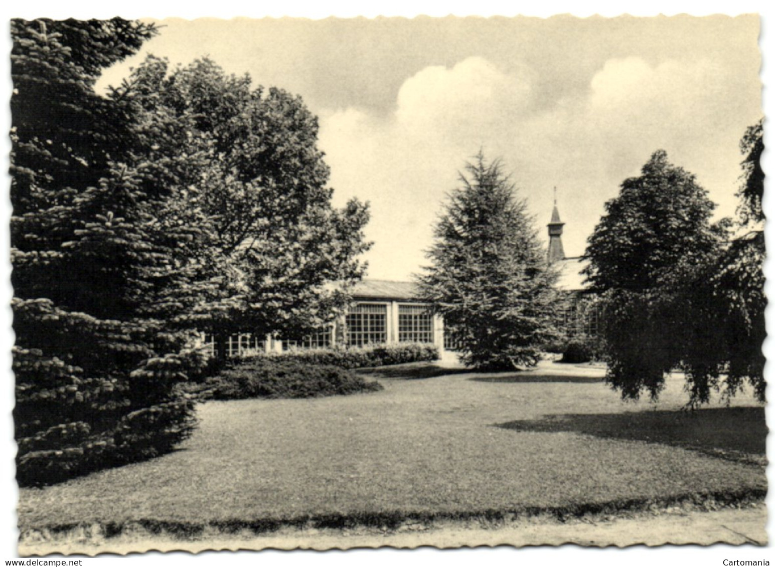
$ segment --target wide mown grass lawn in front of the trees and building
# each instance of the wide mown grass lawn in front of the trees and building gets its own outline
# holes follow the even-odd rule
[[[763,408],[624,403],[600,369],[375,369],[384,391],[199,407],[180,451],[20,491],[19,527],[384,521],[763,497]],[[344,518],[344,519],[343,519]]]

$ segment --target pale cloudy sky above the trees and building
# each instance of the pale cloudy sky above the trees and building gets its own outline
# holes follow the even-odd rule
[[[480,149],[502,161],[543,241],[557,188],[568,256],[656,149],[696,174],[717,217],[734,215],[739,139],[762,115],[756,15],[158,23],[98,88],[153,53],[207,56],[301,95],[334,203],[370,203],[372,278],[422,270],[446,194]]]

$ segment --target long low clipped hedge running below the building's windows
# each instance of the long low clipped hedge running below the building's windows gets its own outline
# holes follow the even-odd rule
[[[437,360],[439,359],[439,349],[436,345],[428,343],[401,342],[398,345],[373,345],[357,348],[291,350],[282,354],[258,356],[257,359],[353,369]]]

